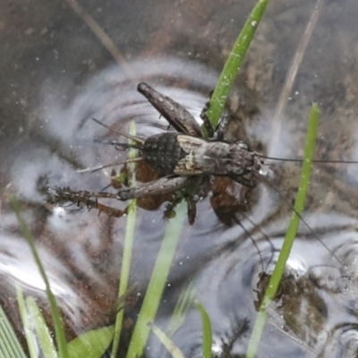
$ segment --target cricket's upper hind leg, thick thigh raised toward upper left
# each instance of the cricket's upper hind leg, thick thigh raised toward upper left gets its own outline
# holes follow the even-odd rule
[[[200,125],[185,107],[175,102],[172,98],[168,98],[154,90],[145,82],[141,82],[137,90],[149,100],[150,104],[158,110],[160,115],[166,118],[166,121],[176,131],[190,134],[194,137],[202,137]]]

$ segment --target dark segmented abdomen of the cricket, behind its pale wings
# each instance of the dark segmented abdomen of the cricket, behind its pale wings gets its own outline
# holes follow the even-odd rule
[[[143,144],[143,159],[163,175],[173,174],[178,161],[185,156],[177,136],[175,132],[160,133],[149,137]]]

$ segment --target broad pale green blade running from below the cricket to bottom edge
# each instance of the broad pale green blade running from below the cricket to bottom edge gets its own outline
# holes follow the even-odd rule
[[[160,245],[147,293],[132,334],[132,340],[126,355],[127,358],[136,358],[143,354],[150,333],[148,324],[152,323],[157,315],[158,306],[166,286],[166,279],[174,259],[176,245],[186,217],[186,202],[182,200],[175,210],[176,217],[170,219],[166,226],[166,233]]]

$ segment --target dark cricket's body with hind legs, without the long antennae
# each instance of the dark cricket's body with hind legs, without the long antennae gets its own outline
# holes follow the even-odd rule
[[[142,198],[149,195],[176,192],[196,180],[197,185],[194,186],[200,186],[200,183],[209,183],[209,179],[213,175],[227,176],[248,187],[256,186],[256,173],[260,171],[262,160],[251,151],[248,144],[243,141],[234,143],[222,141],[223,125],[219,124],[217,130],[213,131],[209,119],[203,112],[201,117],[204,120],[206,131],[213,133],[212,137],[206,140],[203,138],[200,125],[186,108],[152,89],[146,83],[140,83],[138,90],[149,99],[153,107],[158,109],[160,115],[166,118],[176,132],[167,131],[150,136],[147,139],[119,132],[136,143],[124,144],[111,141],[111,144],[122,148],[134,147],[140,149],[139,158],[128,159],[124,163],[143,160],[164,177],[141,186],[121,188],[116,194],[109,192],[72,192],[69,189],[59,190],[57,194],[60,200],[61,197],[63,200],[71,200],[72,202],[90,197],[117,200]],[[102,125],[106,126],[105,124]],[[202,188],[200,190],[203,191]],[[189,206],[193,205],[193,200],[191,200]],[[190,218],[189,221],[193,222],[193,218]]]

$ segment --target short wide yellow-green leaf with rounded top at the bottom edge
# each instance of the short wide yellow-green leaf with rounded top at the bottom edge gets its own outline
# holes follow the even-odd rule
[[[74,338],[68,343],[71,358],[100,358],[113,339],[114,327],[104,327]]]

